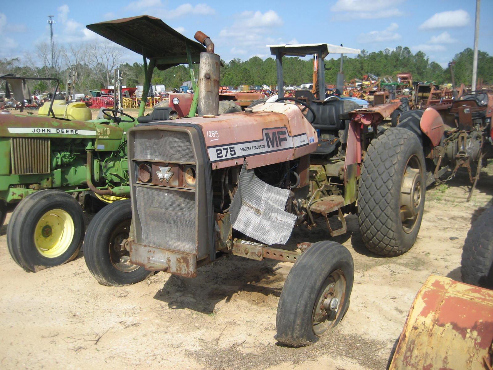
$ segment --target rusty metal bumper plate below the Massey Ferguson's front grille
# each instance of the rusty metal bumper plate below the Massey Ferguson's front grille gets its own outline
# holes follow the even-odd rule
[[[197,276],[197,256],[130,243],[130,262],[149,271],[166,271],[184,277]]]

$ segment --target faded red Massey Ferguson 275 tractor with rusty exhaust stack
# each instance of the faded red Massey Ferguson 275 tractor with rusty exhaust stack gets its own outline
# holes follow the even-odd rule
[[[125,45],[127,36],[115,24],[126,21],[88,28]],[[156,40],[171,33],[154,31]],[[317,54],[319,100],[280,98],[218,115],[220,57],[209,37],[197,32],[195,38],[207,47],[200,54],[198,116],[151,119],[128,131],[131,199],[106,206],[92,220],[86,264],[100,284],[124,286],[153,271],[193,278],[226,254],[294,262],[279,301],[277,340],[308,345],[346,313],[354,268],[351,253],[333,241],[282,248],[293,227],[326,222],[328,234],[340,235],[344,214],[358,208],[368,248],[404,253],[423,216],[423,148],[405,128],[380,134],[377,125],[393,105],[354,110],[351,101],[324,101],[323,58],[354,51],[328,44],[271,47],[281,90],[282,57]],[[142,45],[145,60],[151,49]],[[147,57],[149,66],[156,63]]]

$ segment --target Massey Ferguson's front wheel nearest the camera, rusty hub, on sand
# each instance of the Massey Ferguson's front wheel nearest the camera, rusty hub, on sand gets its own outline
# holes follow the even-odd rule
[[[353,280],[354,262],[344,246],[333,241],[313,244],[287,275],[278,304],[276,339],[290,347],[315,343],[346,314]],[[334,298],[335,307],[321,310]]]

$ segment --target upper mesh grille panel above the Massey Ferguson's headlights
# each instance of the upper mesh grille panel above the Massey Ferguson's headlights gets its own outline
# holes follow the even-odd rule
[[[186,132],[136,131],[135,158],[172,162],[195,162]]]

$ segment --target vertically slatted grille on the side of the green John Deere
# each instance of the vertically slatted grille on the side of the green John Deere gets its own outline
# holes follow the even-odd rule
[[[12,174],[50,172],[49,138],[10,138]]]

